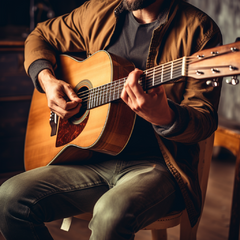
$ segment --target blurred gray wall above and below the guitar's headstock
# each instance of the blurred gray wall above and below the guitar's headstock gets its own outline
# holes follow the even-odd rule
[[[223,44],[232,43],[240,37],[239,0],[188,0],[188,2],[206,12],[218,24],[223,35]],[[223,84],[219,115],[240,124],[240,84],[237,86]]]

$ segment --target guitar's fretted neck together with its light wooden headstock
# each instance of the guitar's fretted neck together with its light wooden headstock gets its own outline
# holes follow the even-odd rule
[[[203,80],[236,76],[240,74],[239,52],[240,42],[205,49],[189,57],[179,58],[145,70],[139,79],[139,84],[144,91],[147,91],[183,76]],[[81,92],[79,97],[87,109],[118,100],[126,80],[127,77],[89,89]]]

